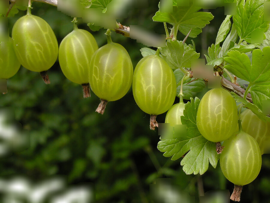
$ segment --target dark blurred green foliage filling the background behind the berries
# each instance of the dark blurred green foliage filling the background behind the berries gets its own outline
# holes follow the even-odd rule
[[[33,2],[32,7],[32,14],[52,27],[58,44],[72,31],[72,18],[56,7],[39,2]],[[129,8],[127,18],[119,22],[164,34],[163,23],[152,21],[157,10],[158,1],[149,0],[147,7]],[[214,43],[224,19],[224,8],[205,11],[211,12],[214,20],[193,39],[201,58]],[[19,11],[8,19],[10,36],[13,24],[25,13]],[[90,31],[80,19],[78,27]],[[99,47],[106,44],[105,29],[90,32]],[[182,40],[184,36],[179,32],[177,38]],[[112,33],[112,39],[127,49],[135,67],[142,58],[140,48],[145,45],[116,33]],[[202,176],[186,175],[181,160],[171,161],[158,151],[158,132],[149,129],[149,115],[136,105],[131,89],[122,99],[109,102],[104,115],[100,115],[95,112],[99,98],[91,92],[91,97],[84,99],[82,87],[64,77],[58,61],[48,74],[51,84],[45,85],[39,73],[21,67],[8,80],[8,93],[0,95],[0,106],[13,107],[16,121],[30,137],[27,149],[1,157],[2,179],[22,175],[35,183],[60,175],[68,186],[93,184],[96,202],[112,203],[156,202],[151,200],[149,188],[157,178],[170,178],[176,191],[193,196],[194,202],[199,202],[199,195],[207,191],[229,189],[232,192],[233,184],[225,179],[219,164],[216,169],[209,166]],[[157,121],[164,122],[165,115],[159,115]],[[269,169],[270,156],[264,154],[259,176],[243,188],[242,202],[270,202]],[[162,202],[181,201],[167,198]]]

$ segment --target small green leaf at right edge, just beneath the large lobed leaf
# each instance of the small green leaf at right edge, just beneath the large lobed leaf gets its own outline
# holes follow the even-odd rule
[[[262,110],[262,101],[270,100],[270,88],[269,86],[253,85],[250,88],[250,94],[253,104],[258,106]]]

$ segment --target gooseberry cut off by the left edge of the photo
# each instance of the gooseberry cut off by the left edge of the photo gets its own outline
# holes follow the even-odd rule
[[[21,64],[13,49],[12,39],[5,38],[0,44],[0,79],[8,79],[18,72]]]

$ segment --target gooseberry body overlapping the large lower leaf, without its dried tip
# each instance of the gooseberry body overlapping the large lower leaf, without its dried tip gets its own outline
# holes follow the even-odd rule
[[[211,142],[228,139],[238,122],[237,107],[231,94],[221,88],[206,92],[199,103],[196,122],[205,139]]]

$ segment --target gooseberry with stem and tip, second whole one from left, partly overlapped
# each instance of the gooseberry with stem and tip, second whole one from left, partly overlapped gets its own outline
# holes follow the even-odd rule
[[[78,29],[75,19],[73,23],[74,30],[60,43],[58,60],[66,78],[82,85],[86,98],[90,97],[89,65],[98,44],[90,32]]]

